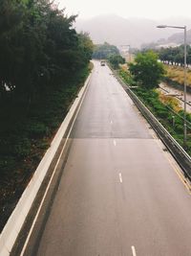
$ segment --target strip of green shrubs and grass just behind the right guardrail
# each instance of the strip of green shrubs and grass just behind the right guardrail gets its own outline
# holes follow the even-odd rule
[[[138,54],[139,55],[139,54]],[[153,69],[153,62],[150,55],[144,55],[144,58],[147,58],[148,64],[142,71],[147,75],[151,74],[150,70]],[[142,101],[144,105],[146,105],[153,114],[158,118],[159,122],[171,133],[171,135],[183,146],[183,110],[180,108],[180,105],[176,99],[173,97],[166,97],[159,92],[158,84],[159,80],[162,79],[164,75],[163,70],[160,72],[159,77],[151,77],[155,78],[155,82],[150,82],[150,78],[148,81],[144,82],[143,79],[139,77],[141,70],[142,58],[136,58],[136,62],[133,64],[138,65],[138,79],[135,76],[135,72],[132,74],[131,64],[129,69],[120,68],[118,71],[118,75],[121,77],[125,83],[132,86],[132,90],[136,93],[138,98]],[[145,59],[143,60],[145,62]],[[159,63],[161,64],[161,63]],[[160,67],[161,68],[161,67]],[[159,68],[159,70],[160,70]],[[136,69],[137,70],[137,69]],[[134,69],[133,69],[134,71]],[[152,84],[152,86],[151,86]],[[185,149],[191,155],[191,114],[186,114],[186,119],[188,121],[187,124],[187,148]]]

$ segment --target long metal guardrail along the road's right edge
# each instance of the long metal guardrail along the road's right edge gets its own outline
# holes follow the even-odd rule
[[[191,180],[191,157],[188,155],[186,151],[180,146],[180,144],[171,136],[171,134],[164,128],[159,120],[151,113],[151,111],[142,104],[142,102],[138,99],[138,96],[128,87],[128,85],[122,81],[117,72],[113,70],[116,75],[117,81],[123,86],[125,91],[131,97],[135,105],[138,106],[138,109],[149,122],[149,124],[156,130],[159,135],[161,141],[165,144],[167,149],[171,152],[174,158],[179,163],[185,177],[188,177]]]

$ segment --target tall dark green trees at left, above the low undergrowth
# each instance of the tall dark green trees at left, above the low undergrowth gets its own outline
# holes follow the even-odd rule
[[[76,34],[75,17],[47,0],[0,2],[0,98],[11,91],[30,105],[44,90],[79,76],[93,43]]]

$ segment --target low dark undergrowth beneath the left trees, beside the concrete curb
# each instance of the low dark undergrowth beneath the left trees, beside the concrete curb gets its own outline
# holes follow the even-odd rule
[[[20,100],[0,107],[0,231],[64,120],[90,69],[71,84],[44,92],[30,109]]]

